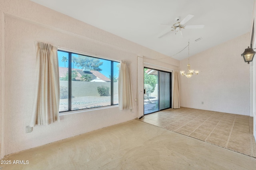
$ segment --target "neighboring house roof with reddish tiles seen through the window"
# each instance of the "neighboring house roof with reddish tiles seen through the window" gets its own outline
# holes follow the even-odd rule
[[[90,74],[92,76],[92,80],[96,79],[97,77],[105,82],[110,82],[111,80],[104,76],[102,73],[96,70],[90,70],[90,72],[83,72],[82,69],[72,68],[71,70],[76,70],[78,72],[76,80],[81,80],[80,77],[82,77],[85,74]],[[65,77],[68,72],[68,68],[65,67],[59,67],[59,74],[60,77]]]

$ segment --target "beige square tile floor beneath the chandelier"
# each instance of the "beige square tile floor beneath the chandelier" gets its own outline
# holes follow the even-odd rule
[[[256,157],[250,116],[181,107],[144,115],[140,121]]]

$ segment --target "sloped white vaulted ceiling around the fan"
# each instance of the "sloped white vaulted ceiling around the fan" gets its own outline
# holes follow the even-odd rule
[[[188,45],[190,56],[251,30],[254,0],[31,0],[90,25],[172,56]],[[183,35],[161,25],[194,18],[185,25],[205,25],[203,29],[183,29]],[[195,39],[202,40],[195,42]],[[250,41],[248,41],[250,45]],[[247,46],[247,45],[245,45]],[[246,48],[246,47],[244,47]],[[241,51],[242,53],[243,51]],[[188,57],[185,49],[174,59]]]

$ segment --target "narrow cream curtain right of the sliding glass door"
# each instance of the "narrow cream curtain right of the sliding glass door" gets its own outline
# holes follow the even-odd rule
[[[173,103],[172,108],[180,108],[180,91],[179,91],[179,72],[174,71],[174,85],[173,85]]]

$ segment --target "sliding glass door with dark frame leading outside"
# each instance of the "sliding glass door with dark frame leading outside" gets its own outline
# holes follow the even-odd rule
[[[171,107],[171,73],[144,68],[144,115]]]

